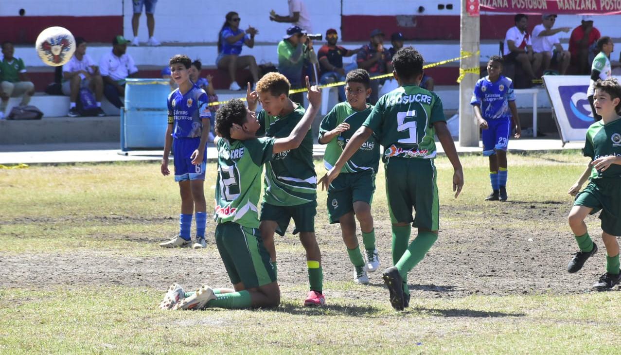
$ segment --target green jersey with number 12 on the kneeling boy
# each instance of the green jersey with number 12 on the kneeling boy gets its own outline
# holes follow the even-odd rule
[[[215,183],[214,220],[258,228],[256,206],[261,194],[263,164],[273,158],[274,138],[233,140],[219,138],[218,176]]]

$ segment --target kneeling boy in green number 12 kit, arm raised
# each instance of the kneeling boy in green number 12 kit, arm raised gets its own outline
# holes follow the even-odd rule
[[[311,128],[321,103],[321,93],[309,84],[309,108],[291,133],[283,138],[256,138],[260,124],[255,112],[240,100],[231,100],[216,114],[215,139],[218,177],[215,187],[215,243],[234,289],[212,289],[203,285],[186,294],[173,284],[160,305],[162,309],[204,307],[276,307],[280,290],[270,254],[263,245],[257,205],[261,194],[263,164],[279,153],[297,148]]]

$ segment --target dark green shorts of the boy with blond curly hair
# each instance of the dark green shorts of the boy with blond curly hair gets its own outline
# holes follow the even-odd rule
[[[315,214],[317,214],[317,201],[297,206],[276,206],[263,202],[261,204],[261,220],[275,221],[278,223],[276,233],[284,235],[289,227],[289,222],[293,218],[296,228],[293,228],[293,234],[297,232],[313,232],[315,231]]]

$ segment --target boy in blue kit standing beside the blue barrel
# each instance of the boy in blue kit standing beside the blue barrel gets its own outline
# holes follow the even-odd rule
[[[175,55],[169,61],[171,78],[179,88],[168,96],[168,128],[161,161],[161,173],[170,174],[168,155],[173,149],[175,181],[181,192],[179,235],[161,243],[163,248],[205,248],[207,206],[203,192],[207,163],[206,143],[211,112],[206,92],[192,83],[188,69],[192,61],[186,55]],[[192,245],[190,229],[196,210],[196,242]]]

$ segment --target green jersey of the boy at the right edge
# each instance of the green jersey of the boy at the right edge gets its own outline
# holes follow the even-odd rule
[[[592,124],[586,131],[582,153],[584,156],[590,156],[592,160],[601,156],[621,156],[621,119],[609,124],[604,124],[604,120]],[[591,179],[602,177],[621,177],[621,165],[610,164],[610,167],[604,171],[592,169]]]

